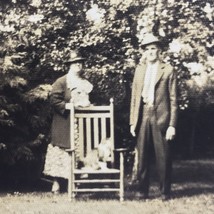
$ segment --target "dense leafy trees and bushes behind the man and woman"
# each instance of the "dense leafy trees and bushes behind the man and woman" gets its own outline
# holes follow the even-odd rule
[[[50,141],[48,93],[66,73],[70,49],[79,49],[86,58],[92,102],[114,98],[117,146],[133,147],[128,126],[131,82],[143,58],[138,45],[146,32],[162,39],[163,60],[178,74],[178,141],[190,142],[183,152],[193,150],[201,128],[210,142],[213,6],[212,0],[1,0],[1,171],[27,171],[30,177],[41,172]]]

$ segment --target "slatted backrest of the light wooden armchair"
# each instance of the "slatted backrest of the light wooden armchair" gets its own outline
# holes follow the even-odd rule
[[[89,106],[84,108],[69,107],[71,111],[71,149],[75,148],[75,143],[79,147],[80,158],[94,149],[103,139],[110,138],[111,142],[111,162],[114,162],[114,107],[113,99],[105,106]],[[75,142],[77,141],[77,142]]]

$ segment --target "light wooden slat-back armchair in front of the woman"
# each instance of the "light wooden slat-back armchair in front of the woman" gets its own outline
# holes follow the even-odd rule
[[[72,199],[77,193],[117,192],[120,201],[124,200],[124,157],[125,149],[115,149],[114,144],[114,107],[110,105],[74,108],[72,103],[66,104],[70,110],[70,142],[67,150],[70,154],[70,177],[68,179],[68,196]],[[75,132],[78,138],[75,139]],[[102,139],[111,138],[111,165],[107,169],[78,169],[75,155],[75,140],[78,140],[79,156],[84,158],[96,149]],[[119,167],[115,168],[115,151],[119,152]],[[87,175],[87,176],[84,176]]]

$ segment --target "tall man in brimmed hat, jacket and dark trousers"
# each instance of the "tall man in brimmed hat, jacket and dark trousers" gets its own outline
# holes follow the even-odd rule
[[[145,62],[136,67],[132,84],[130,132],[137,134],[138,180],[143,198],[149,194],[151,151],[154,150],[161,198],[170,198],[171,141],[177,121],[176,75],[171,65],[159,59],[160,41],[145,35],[141,47]],[[153,150],[151,150],[153,149]]]

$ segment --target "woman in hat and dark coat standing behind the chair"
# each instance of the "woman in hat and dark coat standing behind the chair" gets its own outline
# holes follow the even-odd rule
[[[69,111],[65,104],[72,101],[74,106],[89,106],[89,93],[92,91],[92,84],[81,77],[83,72],[84,58],[76,51],[72,51],[70,59],[66,62],[69,71],[60,77],[53,84],[50,94],[50,101],[54,109],[51,144],[48,145],[44,174],[54,177],[52,192],[58,193],[60,185],[58,178],[68,178],[69,155],[65,149],[70,148],[70,120]]]

